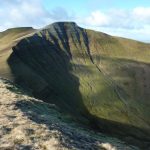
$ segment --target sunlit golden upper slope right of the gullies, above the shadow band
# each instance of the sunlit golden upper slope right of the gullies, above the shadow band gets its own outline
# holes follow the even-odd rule
[[[107,57],[150,62],[150,44],[148,43],[113,37],[92,30],[88,30],[87,32],[93,56],[99,56],[100,54],[101,56],[106,55]]]

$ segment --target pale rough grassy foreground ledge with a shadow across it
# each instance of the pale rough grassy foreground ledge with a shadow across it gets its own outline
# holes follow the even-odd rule
[[[138,150],[75,123],[55,105],[0,79],[0,150]]]

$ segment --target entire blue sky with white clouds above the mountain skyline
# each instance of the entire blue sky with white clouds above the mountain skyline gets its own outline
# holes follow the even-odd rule
[[[55,21],[150,42],[150,0],[0,0],[0,31]]]

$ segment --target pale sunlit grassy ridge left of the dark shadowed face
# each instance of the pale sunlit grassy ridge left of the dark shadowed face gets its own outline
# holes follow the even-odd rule
[[[12,53],[14,46],[21,38],[33,33],[35,30],[31,27],[12,28],[0,32],[0,74],[5,78],[11,78],[11,71],[7,64],[7,59]]]

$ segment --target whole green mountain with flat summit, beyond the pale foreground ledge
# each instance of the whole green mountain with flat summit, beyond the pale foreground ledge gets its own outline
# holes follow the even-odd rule
[[[0,45],[1,77],[85,125],[149,146],[150,44],[56,22],[2,32]]]

